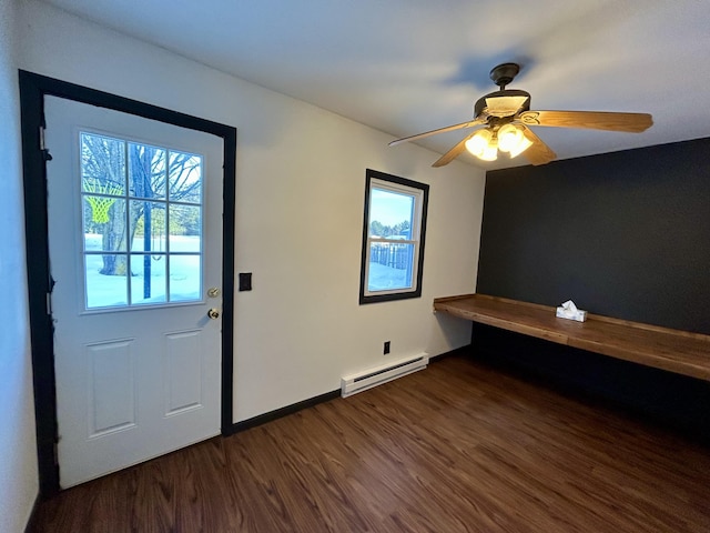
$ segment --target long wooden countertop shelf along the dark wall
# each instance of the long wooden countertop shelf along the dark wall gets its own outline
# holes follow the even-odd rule
[[[435,311],[567,344],[589,352],[710,381],[710,335],[587,314],[555,316],[555,308],[486,294],[436,298]]]

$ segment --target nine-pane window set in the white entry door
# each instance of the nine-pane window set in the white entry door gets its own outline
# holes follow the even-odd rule
[[[80,133],[85,310],[202,300],[202,155]]]

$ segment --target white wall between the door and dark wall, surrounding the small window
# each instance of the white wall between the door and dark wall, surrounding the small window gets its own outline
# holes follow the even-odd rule
[[[339,388],[344,373],[467,344],[470,326],[432,313],[474,292],[484,172],[387,148],[389,135],[23,2],[21,68],[237,128],[234,420]],[[365,169],[430,184],[423,296],[358,305]]]

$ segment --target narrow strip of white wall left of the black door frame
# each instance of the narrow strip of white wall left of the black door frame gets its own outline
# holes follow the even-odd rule
[[[16,0],[0,2],[0,531],[24,529],[39,484],[20,160]]]

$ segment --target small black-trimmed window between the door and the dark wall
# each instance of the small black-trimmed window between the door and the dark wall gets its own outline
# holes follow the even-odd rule
[[[367,170],[359,303],[422,295],[429,185]]]

